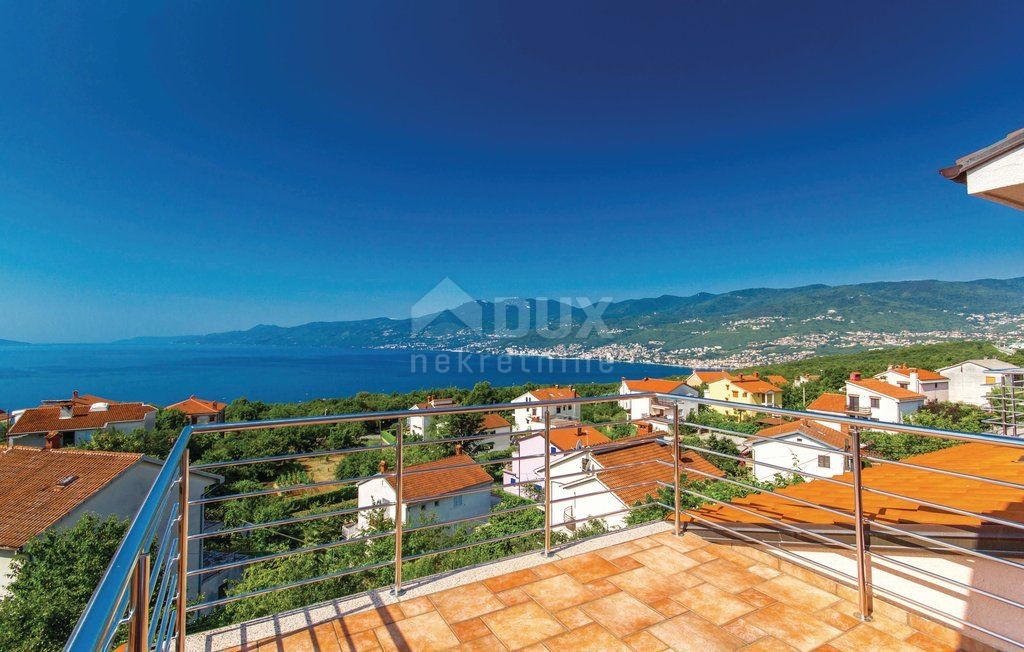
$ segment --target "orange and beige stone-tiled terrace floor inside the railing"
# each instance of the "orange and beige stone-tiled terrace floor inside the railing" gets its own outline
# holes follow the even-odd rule
[[[660,531],[243,646],[204,647],[260,652],[976,649],[950,629],[895,609],[883,610],[891,618],[877,611],[873,620],[861,622],[856,606],[840,597],[842,591],[827,591],[826,582],[806,575],[801,579],[784,562],[772,561],[778,562],[694,534]]]

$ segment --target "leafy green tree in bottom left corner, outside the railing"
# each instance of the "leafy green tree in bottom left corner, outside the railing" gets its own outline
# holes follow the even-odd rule
[[[0,650],[61,650],[110,564],[127,521],[87,514],[33,538],[14,558],[0,600]]]

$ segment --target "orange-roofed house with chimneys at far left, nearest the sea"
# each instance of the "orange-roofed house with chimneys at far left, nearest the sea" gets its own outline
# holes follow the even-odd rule
[[[156,424],[157,408],[153,405],[119,403],[75,392],[71,399],[44,401],[39,407],[23,410],[7,431],[7,440],[42,448],[48,437],[56,435],[61,446],[71,446],[89,441],[97,430],[153,430]]]

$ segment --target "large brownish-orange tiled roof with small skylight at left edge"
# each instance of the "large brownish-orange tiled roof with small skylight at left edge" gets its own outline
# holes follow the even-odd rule
[[[141,458],[75,448],[12,446],[0,451],[0,496],[8,506],[0,510],[0,548],[25,546]]]

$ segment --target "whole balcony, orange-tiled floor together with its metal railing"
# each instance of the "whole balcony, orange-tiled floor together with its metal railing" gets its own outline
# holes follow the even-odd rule
[[[624,398],[590,397],[573,402]],[[762,408],[694,400],[755,412]],[[548,406],[545,402],[535,405]],[[453,406],[417,410],[417,415],[511,407]],[[775,411],[788,418],[862,423],[847,417]],[[457,448],[439,470],[437,462],[409,464],[403,460],[418,446],[461,447],[489,435],[418,440],[403,435],[401,424],[407,417],[407,411],[395,411],[186,428],[67,649],[109,650],[125,640],[129,650],[204,651],[460,646],[490,650],[537,645],[549,650],[1024,647],[1019,643],[1024,638],[1020,627],[1024,563],[1019,561],[1024,559],[1024,464],[1019,462],[1024,441],[1019,439],[885,424],[886,430],[974,447],[962,454],[948,448],[932,457],[892,461],[862,450],[858,429],[853,428],[851,445],[841,453],[852,471],[823,477],[758,462],[807,480],[771,488],[723,474],[708,462],[740,461],[741,457],[703,446],[684,448],[671,434],[668,442],[633,437],[585,446],[555,462],[550,445],[545,445],[543,453],[480,461],[466,458]],[[378,420],[397,425],[393,444],[205,464],[190,464],[187,455],[193,437],[245,436],[253,430]],[[724,428],[705,430],[760,437]],[[540,432],[550,437],[550,424]],[[812,441],[790,445],[815,454],[824,450]],[[653,452],[637,454],[641,449]],[[211,495],[193,494],[183,481],[189,469],[260,469],[360,451],[393,454],[394,466],[360,477],[268,483],[261,489]],[[579,470],[570,466],[577,453],[590,460]],[[514,460],[529,459],[545,468],[536,501],[516,498],[522,502],[495,506],[492,499],[490,511],[482,516],[449,513],[439,520],[416,516],[418,509],[424,509],[418,506],[436,506],[446,499],[466,506],[481,494],[504,495],[511,485],[489,479],[481,484],[478,478],[469,478],[460,488],[445,485],[483,467],[502,469]],[[596,484],[581,484],[591,481]],[[392,497],[185,534],[189,510],[183,506],[371,483],[385,490],[390,486]],[[566,495],[566,486],[579,488]],[[710,488],[716,486],[742,489],[736,494],[742,497],[724,499],[725,494]],[[611,501],[603,506],[618,501],[623,507],[591,506],[601,496]],[[383,526],[353,529],[360,515],[387,510],[393,516],[382,518]],[[481,518],[493,523],[513,515],[515,522],[522,518],[524,523],[514,531],[489,531],[479,525]],[[640,515],[643,518],[634,518]],[[202,557],[194,553],[217,537],[273,533],[297,523],[330,519],[346,521],[346,533],[340,538],[300,539],[216,565],[191,565],[194,558]],[[604,527],[595,527],[597,522]],[[441,548],[423,548],[423,539],[413,541],[424,532],[456,528],[462,538],[437,539],[443,541]],[[361,552],[344,557],[342,551],[347,550]],[[484,559],[470,551],[483,551],[480,557]],[[336,554],[347,561],[339,565]],[[286,560],[301,559],[312,560],[302,576],[271,573],[263,583],[228,585],[221,595],[195,603],[186,604],[185,592],[178,589],[194,578],[231,569],[280,570]],[[358,581],[339,583],[343,578]],[[335,593],[327,602],[296,604],[286,599],[301,597],[297,590],[312,586],[335,586]],[[260,603],[266,607],[264,615],[213,629],[210,620],[203,619],[223,615],[229,605],[267,599]],[[184,632],[188,636],[182,636]]]

